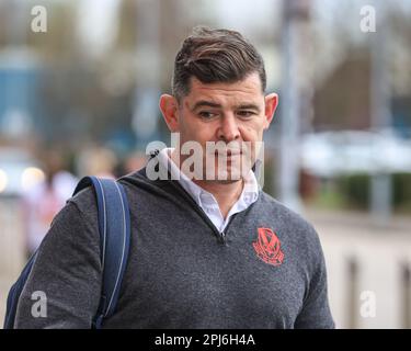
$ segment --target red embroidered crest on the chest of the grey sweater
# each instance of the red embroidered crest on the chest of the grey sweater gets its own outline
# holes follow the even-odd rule
[[[284,261],[281,242],[275,233],[270,228],[259,228],[259,238],[252,244],[260,259],[265,263],[279,265]]]

